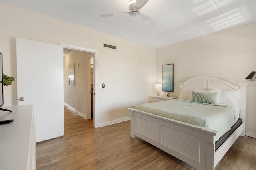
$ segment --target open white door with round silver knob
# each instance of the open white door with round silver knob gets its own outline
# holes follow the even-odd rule
[[[34,104],[36,142],[64,135],[63,47],[17,38],[18,105]]]

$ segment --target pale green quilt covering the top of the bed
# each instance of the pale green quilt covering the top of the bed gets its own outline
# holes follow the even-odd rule
[[[216,130],[218,133],[214,141],[228,132],[239,118],[239,110],[230,105],[195,103],[181,99],[144,103],[134,109]]]

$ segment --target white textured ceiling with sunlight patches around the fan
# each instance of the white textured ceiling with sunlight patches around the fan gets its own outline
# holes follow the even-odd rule
[[[134,42],[162,47],[256,21],[256,0],[149,0],[140,10],[156,24],[128,12],[128,0],[3,1]]]

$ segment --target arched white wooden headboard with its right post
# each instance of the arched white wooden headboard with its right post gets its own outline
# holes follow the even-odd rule
[[[182,89],[240,89],[240,118],[245,122],[246,86],[248,84],[238,84],[216,75],[199,75],[184,81],[184,83],[178,83],[178,85],[180,93]]]

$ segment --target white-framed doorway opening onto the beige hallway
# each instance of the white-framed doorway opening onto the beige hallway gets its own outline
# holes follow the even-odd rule
[[[93,119],[95,127],[95,51],[70,45],[62,46],[64,50],[64,104],[85,119]],[[74,65],[74,85],[65,83],[68,79],[68,68],[65,67],[70,64]]]

